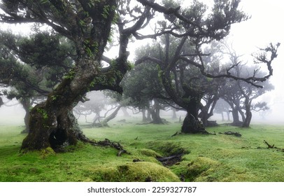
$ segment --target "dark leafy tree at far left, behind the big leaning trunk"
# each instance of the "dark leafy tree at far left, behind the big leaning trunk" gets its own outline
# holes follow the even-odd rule
[[[29,36],[0,31],[0,84],[8,99],[23,106],[25,130],[29,132],[29,110],[43,99],[71,69],[74,50],[70,41],[54,31],[39,31]]]

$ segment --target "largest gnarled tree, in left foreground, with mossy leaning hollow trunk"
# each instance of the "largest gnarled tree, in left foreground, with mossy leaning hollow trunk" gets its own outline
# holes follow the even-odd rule
[[[150,8],[145,6],[134,13],[128,13],[133,19],[130,20],[131,23],[120,18],[118,8],[124,10],[127,2],[129,3],[115,0],[1,1],[1,22],[37,22],[49,25],[73,41],[78,56],[73,69],[48,95],[46,102],[32,109],[30,132],[22,142],[23,150],[47,147],[56,149],[62,144],[76,144],[78,140],[88,141],[73,116],[73,107],[90,90],[111,89],[122,92],[119,83],[129,69],[129,38],[152,16]],[[113,24],[118,25],[120,32],[119,54],[111,61],[106,59],[110,65],[104,69],[101,60]]]

